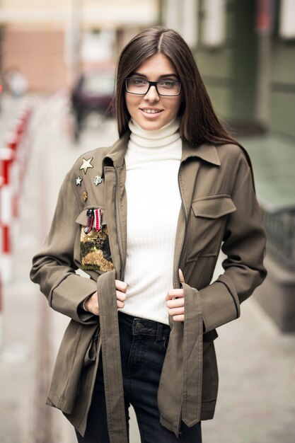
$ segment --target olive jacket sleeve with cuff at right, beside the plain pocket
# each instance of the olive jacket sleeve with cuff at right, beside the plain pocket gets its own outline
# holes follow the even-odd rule
[[[241,154],[231,194],[236,211],[229,214],[221,250],[224,274],[199,291],[204,332],[240,316],[240,304],[253,293],[267,274],[263,266],[265,230],[255,196],[253,173]]]

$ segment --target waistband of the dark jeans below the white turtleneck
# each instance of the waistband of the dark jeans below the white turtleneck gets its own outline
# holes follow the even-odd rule
[[[170,335],[170,326],[147,318],[129,316],[127,313],[118,313],[119,324],[132,330],[133,335],[149,335],[158,339]]]

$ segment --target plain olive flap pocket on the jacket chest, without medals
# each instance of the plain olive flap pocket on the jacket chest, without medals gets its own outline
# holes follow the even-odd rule
[[[229,195],[212,195],[192,202],[188,225],[187,262],[219,254],[226,215],[236,211]]]

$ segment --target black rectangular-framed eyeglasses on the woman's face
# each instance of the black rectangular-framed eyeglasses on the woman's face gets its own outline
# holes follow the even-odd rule
[[[145,96],[151,86],[155,86],[159,96],[179,96],[181,91],[181,83],[178,80],[149,81],[135,77],[125,79],[126,91],[137,96]]]

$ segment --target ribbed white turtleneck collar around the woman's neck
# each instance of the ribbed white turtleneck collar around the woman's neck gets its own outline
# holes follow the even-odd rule
[[[160,148],[180,139],[179,120],[173,119],[159,130],[143,130],[137,122],[129,120],[130,141],[144,148]]]

